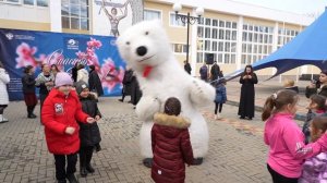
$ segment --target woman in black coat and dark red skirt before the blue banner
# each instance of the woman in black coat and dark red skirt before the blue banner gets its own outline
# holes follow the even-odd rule
[[[35,76],[34,68],[28,65],[24,70],[24,76],[22,77],[24,100],[27,107],[27,118],[35,119],[33,113],[35,106],[37,105],[37,98],[35,95]]]

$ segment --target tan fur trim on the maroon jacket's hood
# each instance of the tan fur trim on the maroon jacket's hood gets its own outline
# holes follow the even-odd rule
[[[154,117],[155,124],[171,126],[174,129],[187,129],[191,123],[187,119],[165,113],[156,113]]]

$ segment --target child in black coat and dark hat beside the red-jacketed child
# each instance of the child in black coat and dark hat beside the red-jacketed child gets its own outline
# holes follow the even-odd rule
[[[80,96],[83,112],[87,113],[89,117],[98,121],[101,118],[101,113],[97,106],[97,100],[89,93],[89,87],[87,83],[80,81],[75,84],[76,93]],[[97,123],[78,123],[80,124],[80,166],[81,166],[81,176],[85,178],[87,172],[93,173],[95,170],[90,166],[90,160],[93,151],[95,148],[99,147],[101,141],[99,126]]]

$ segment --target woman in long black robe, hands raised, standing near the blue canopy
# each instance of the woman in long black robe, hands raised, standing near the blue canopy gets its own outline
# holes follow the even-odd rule
[[[242,87],[238,114],[240,119],[247,118],[252,120],[254,117],[254,84],[257,84],[257,77],[251,65],[245,66],[243,74],[241,74],[240,83]]]

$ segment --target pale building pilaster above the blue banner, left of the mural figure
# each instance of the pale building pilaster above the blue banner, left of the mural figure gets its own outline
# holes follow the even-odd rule
[[[49,1],[51,32],[61,33],[61,1]]]

